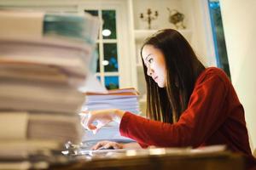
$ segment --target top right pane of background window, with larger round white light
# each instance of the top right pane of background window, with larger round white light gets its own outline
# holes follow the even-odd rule
[[[103,39],[116,39],[115,10],[102,10],[102,19],[104,20]]]

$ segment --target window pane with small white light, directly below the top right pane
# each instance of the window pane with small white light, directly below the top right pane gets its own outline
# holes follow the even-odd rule
[[[104,43],[104,60],[102,65],[107,72],[119,71],[118,58],[117,58],[117,44]]]

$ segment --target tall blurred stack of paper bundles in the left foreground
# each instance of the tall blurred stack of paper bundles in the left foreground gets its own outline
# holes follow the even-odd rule
[[[0,160],[79,143],[84,94],[78,89],[89,72],[99,20],[2,10],[0,23]]]

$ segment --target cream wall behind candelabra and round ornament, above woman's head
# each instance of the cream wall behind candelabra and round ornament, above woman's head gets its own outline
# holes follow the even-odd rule
[[[189,42],[194,48],[195,53],[205,65],[216,66],[211,35],[212,28],[206,0],[161,0],[160,2],[157,0],[133,0],[135,29],[147,29],[147,22],[143,22],[139,18],[141,13],[146,13],[147,8],[159,12],[157,20],[152,21],[152,29],[175,28],[168,21],[169,12],[166,9],[167,7],[177,9],[185,15],[184,26],[191,31]]]

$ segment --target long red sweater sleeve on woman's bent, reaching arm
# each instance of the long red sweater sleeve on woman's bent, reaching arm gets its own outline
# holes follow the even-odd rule
[[[228,93],[227,82],[216,74],[207,75],[196,82],[189,99],[188,109],[177,123],[148,120],[125,112],[119,131],[121,135],[138,143],[159,147],[184,147],[201,145],[228,116],[224,99]]]

